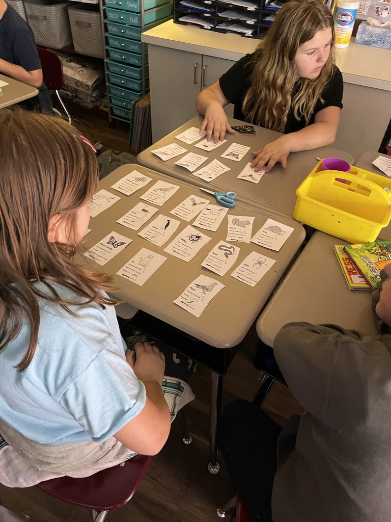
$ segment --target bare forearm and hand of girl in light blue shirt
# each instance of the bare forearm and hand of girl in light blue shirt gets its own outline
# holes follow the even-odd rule
[[[137,378],[144,383],[146,402],[141,412],[114,436],[133,452],[156,455],[164,446],[171,425],[169,408],[162,391],[164,355],[148,342],[136,343],[135,351],[137,357],[134,366],[130,350],[126,360],[133,367]]]

